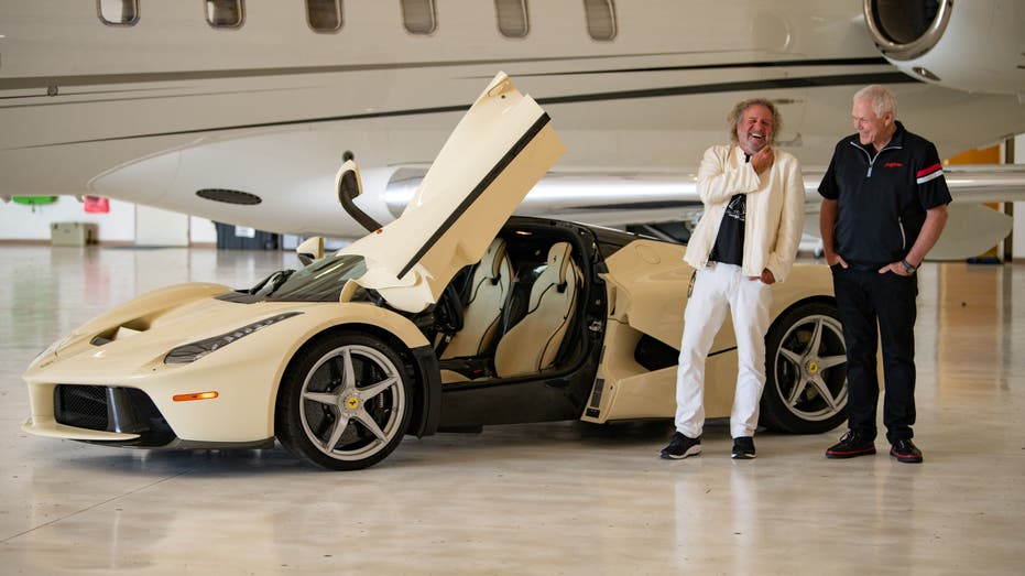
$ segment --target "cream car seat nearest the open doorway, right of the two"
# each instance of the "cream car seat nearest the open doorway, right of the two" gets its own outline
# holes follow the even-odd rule
[[[547,267],[531,287],[526,315],[499,340],[494,352],[499,377],[536,373],[555,362],[581,281],[570,251],[568,242],[548,249]]]

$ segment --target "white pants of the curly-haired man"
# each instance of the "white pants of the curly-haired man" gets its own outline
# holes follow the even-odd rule
[[[729,307],[737,334],[737,391],[730,434],[753,436],[765,388],[765,333],[772,291],[740,267],[710,264],[699,270],[684,312],[684,337],[676,372],[676,430],[697,438],[705,427],[705,359]]]

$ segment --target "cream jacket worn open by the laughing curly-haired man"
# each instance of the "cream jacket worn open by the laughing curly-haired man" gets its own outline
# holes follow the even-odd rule
[[[805,219],[805,187],[800,164],[793,154],[774,149],[771,169],[759,175],[744,161],[740,146],[715,145],[705,151],[698,169],[698,195],[705,214],[690,235],[684,260],[696,269],[708,265],[719,224],[730,198],[746,194],[743,273],[768,269],[776,282],[790,273]]]

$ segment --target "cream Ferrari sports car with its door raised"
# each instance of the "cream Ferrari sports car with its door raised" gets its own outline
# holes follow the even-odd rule
[[[456,127],[401,217],[247,290],[144,294],[36,357],[24,379],[42,436],[140,448],[266,447],[347,470],[406,434],[504,423],[670,419],[684,246],[510,217],[564,149],[547,113],[499,74]],[[825,265],[773,286],[762,423],[840,424],[844,344]],[[730,413],[730,323],[707,366],[706,412]]]

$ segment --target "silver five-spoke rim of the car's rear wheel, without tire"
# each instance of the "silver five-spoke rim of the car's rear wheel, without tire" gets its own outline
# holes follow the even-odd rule
[[[771,369],[787,410],[806,422],[832,419],[847,406],[847,347],[837,318],[794,323],[772,354]]]

